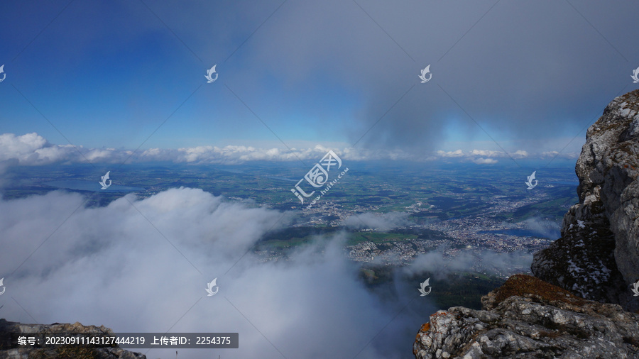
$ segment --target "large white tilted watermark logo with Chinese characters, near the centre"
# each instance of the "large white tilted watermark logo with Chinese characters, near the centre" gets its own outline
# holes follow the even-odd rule
[[[339,182],[339,180],[342,179],[342,176],[344,176],[344,174],[346,174],[346,172],[349,172],[349,168],[346,167],[346,169],[343,170],[342,173],[337,175],[337,178],[335,178],[331,182],[328,182],[328,180],[329,180],[329,172],[331,170],[331,167],[333,167],[333,166],[337,166],[337,169],[334,169],[334,170],[339,170],[340,168],[342,168],[342,159],[339,158],[332,150],[329,150],[329,152],[326,155],[324,155],[322,160],[320,160],[320,162],[317,162],[310,169],[310,171],[308,171],[307,174],[304,175],[304,178],[302,178],[302,180],[298,181],[297,184],[295,184],[295,187],[290,189],[290,192],[293,192],[293,194],[295,194],[295,197],[297,197],[297,199],[300,199],[302,204],[304,204],[304,199],[308,198],[308,197],[311,197],[313,194],[315,194],[315,189],[313,189],[313,192],[310,192],[310,193],[305,192],[304,189],[302,189],[302,187],[300,187],[300,184],[302,183],[302,181],[306,180],[306,182],[308,182],[308,184],[310,184],[313,188],[316,188],[316,189],[324,187],[324,189],[320,190],[320,195],[317,196],[308,205],[307,208],[312,207],[313,204],[315,204],[316,201],[318,201],[320,198],[322,198],[322,196],[324,194],[326,194],[326,192],[328,192],[329,189],[334,184],[336,184],[337,182]]]

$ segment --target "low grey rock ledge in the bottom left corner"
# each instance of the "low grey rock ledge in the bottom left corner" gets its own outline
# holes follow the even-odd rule
[[[5,349],[2,344],[11,341],[11,333],[113,333],[104,326],[75,324],[20,324],[0,319],[0,359],[28,358],[91,358],[91,359],[146,359],[146,355],[121,348],[83,348],[67,346],[60,348]]]

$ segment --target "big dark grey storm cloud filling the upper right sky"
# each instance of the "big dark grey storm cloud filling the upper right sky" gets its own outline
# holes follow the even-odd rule
[[[489,140],[470,115],[493,138],[532,150],[557,134],[577,136],[613,96],[632,89],[639,3],[493,4],[290,1],[251,53],[299,87],[320,77],[358,93],[352,142],[392,108],[364,138],[376,146],[432,148],[450,121],[455,133]],[[432,80],[421,84],[417,75],[429,64]]]

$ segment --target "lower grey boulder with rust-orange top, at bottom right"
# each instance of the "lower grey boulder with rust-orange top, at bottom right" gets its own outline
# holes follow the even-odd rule
[[[514,275],[482,298],[454,306],[417,333],[415,358],[639,358],[639,314]]]

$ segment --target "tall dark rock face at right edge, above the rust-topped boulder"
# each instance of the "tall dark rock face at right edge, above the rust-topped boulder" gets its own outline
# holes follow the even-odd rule
[[[575,167],[579,204],[532,273],[586,299],[639,309],[639,90],[614,99],[586,133]]]

